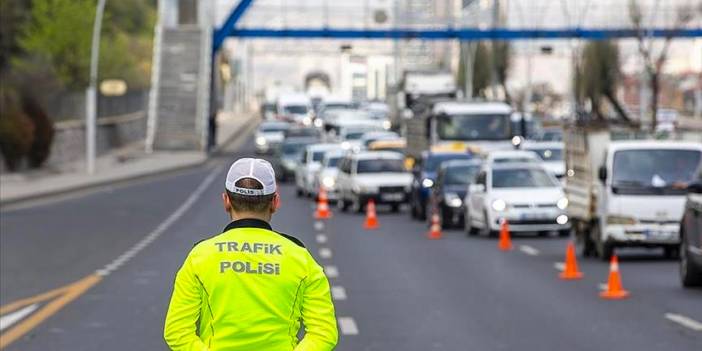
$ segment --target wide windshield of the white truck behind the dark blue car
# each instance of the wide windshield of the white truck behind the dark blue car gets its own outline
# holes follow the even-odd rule
[[[441,140],[509,140],[512,138],[508,115],[452,115],[438,118]]]

